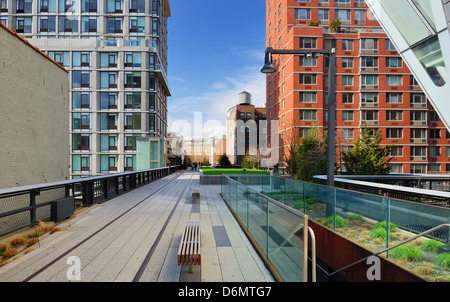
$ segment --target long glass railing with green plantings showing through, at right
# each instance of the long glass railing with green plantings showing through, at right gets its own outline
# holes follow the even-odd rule
[[[245,190],[250,189],[251,192],[246,193]],[[238,213],[243,210],[236,199],[240,201],[247,194],[252,196],[249,200],[254,202],[255,192],[259,193],[258,200],[277,200],[373,253],[450,223],[449,208],[420,202],[408,202],[268,175],[233,175],[230,180],[222,177],[222,194],[228,197],[232,204],[234,202]],[[270,215],[277,213],[277,220],[283,221],[282,226],[286,230],[279,233],[287,236],[288,231],[294,230],[298,225],[297,221],[291,222],[291,214],[284,216],[284,213],[273,209],[276,207],[272,203],[270,205]],[[253,222],[253,212],[245,213],[248,214],[247,221]],[[389,258],[425,280],[450,281],[449,244],[450,229],[440,228],[380,256]]]

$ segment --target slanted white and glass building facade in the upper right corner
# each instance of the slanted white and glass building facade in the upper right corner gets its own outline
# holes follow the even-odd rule
[[[450,1],[366,3],[450,129]]]

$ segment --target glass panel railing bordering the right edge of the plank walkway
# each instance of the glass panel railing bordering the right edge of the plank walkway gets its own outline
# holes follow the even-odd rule
[[[284,281],[307,281],[308,216],[261,194],[270,181],[274,188],[284,186],[284,180],[265,176],[222,175],[222,196],[277,274]]]

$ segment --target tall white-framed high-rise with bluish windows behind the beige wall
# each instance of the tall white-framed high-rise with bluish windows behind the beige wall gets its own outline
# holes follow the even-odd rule
[[[0,21],[70,71],[72,178],[135,170],[138,137],[164,146],[170,16],[168,0],[0,0]]]

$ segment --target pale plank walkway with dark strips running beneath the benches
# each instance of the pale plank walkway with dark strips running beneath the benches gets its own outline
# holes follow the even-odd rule
[[[0,268],[0,281],[274,281],[219,192],[185,171],[92,206]],[[187,220],[201,221],[202,264],[193,274],[177,265]]]

